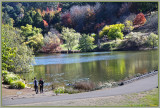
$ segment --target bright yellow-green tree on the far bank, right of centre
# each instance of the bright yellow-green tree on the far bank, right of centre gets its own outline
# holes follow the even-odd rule
[[[114,25],[106,25],[100,32],[99,36],[102,38],[103,36],[107,36],[110,40],[115,40],[117,38],[123,39],[124,24],[114,24]]]

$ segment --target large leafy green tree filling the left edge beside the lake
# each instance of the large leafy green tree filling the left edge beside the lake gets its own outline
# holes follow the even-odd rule
[[[33,71],[33,51],[23,42],[20,30],[2,24],[2,69],[12,72]]]

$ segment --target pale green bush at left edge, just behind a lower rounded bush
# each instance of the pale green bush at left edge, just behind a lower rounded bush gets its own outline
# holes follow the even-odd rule
[[[11,84],[13,81],[20,80],[20,77],[18,75],[15,75],[13,73],[7,74],[4,76],[4,83],[5,84]]]

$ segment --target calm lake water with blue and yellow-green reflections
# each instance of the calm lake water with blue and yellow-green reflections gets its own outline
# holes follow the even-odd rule
[[[27,82],[41,77],[45,85],[89,80],[94,83],[119,81],[158,68],[158,51],[93,52],[52,54],[35,57],[35,72],[23,74]]]

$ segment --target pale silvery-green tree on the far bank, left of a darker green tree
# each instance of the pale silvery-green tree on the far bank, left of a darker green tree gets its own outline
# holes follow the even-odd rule
[[[62,38],[66,42],[66,47],[69,50],[78,44],[79,38],[81,37],[80,33],[76,33],[74,29],[63,28],[62,29]]]

